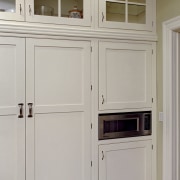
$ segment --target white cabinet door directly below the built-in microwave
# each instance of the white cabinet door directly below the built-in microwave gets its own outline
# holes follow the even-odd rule
[[[151,180],[151,141],[99,146],[99,180]]]

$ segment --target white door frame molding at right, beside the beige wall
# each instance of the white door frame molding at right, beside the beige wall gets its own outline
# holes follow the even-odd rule
[[[180,16],[163,23],[163,180],[180,178]]]

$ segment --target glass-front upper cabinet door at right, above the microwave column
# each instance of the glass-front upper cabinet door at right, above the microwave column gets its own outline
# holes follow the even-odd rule
[[[99,0],[99,26],[152,30],[152,0]]]

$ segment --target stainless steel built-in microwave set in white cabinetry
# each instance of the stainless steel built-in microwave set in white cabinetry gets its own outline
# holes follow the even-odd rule
[[[151,135],[151,111],[99,114],[99,140]]]

